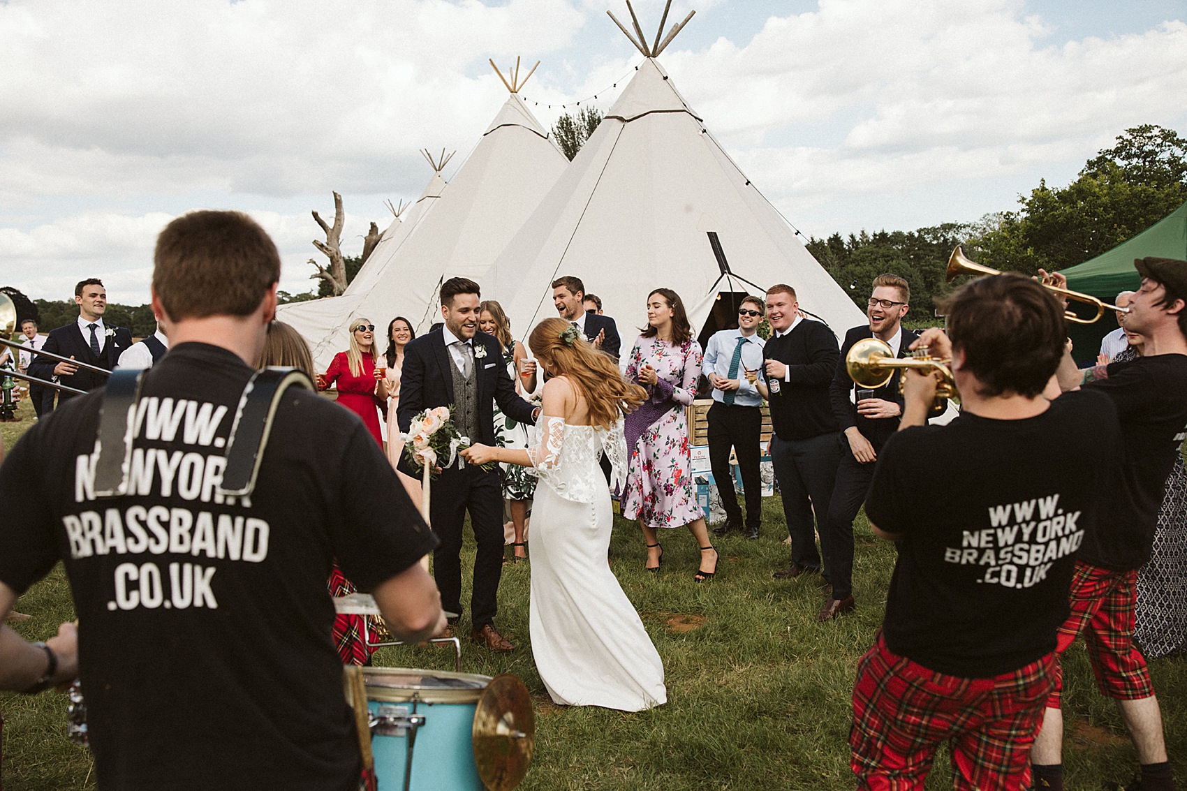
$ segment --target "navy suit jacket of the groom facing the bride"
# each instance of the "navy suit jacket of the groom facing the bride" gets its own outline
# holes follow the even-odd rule
[[[507,373],[503,353],[499,340],[485,333],[476,333],[474,348],[482,346],[487,356],[475,355],[474,367],[478,376],[478,432],[471,437],[474,442],[484,445],[495,444],[495,404],[499,409],[520,423],[532,424],[533,404],[525,401],[515,392],[515,382]],[[413,338],[404,347],[404,367],[400,369],[400,403],[396,407],[396,419],[400,431],[407,431],[412,418],[424,410],[434,406],[452,406],[453,400],[453,357],[445,348],[445,337],[440,330]],[[402,463],[402,462],[401,462]]]

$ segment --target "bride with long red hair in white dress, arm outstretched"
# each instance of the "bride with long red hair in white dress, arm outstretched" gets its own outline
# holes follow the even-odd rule
[[[468,461],[531,467],[532,654],[548,695],[566,705],[639,711],[667,701],[664,663],[607,563],[614,511],[598,458],[626,475],[622,409],[646,392],[563,318],[532,330],[528,346],[552,378],[544,385],[538,438],[527,450],[474,445]]]

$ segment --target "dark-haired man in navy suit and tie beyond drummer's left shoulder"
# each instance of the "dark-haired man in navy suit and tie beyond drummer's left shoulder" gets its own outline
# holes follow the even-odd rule
[[[119,361],[120,354],[132,346],[132,331],[103,323],[107,289],[97,278],[83,280],[75,286],[75,304],[78,305],[78,319],[50,330],[42,350],[110,371]],[[38,379],[52,376],[55,381],[76,390],[95,390],[107,384],[107,376],[103,374],[69,362],[56,362],[40,355],[36,355],[30,362],[28,374]],[[68,398],[74,398],[74,393],[61,391],[58,404]]]

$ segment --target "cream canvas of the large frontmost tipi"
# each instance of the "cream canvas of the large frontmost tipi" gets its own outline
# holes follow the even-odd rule
[[[516,337],[557,315],[551,284],[561,276],[602,298],[624,348],[656,287],[680,295],[698,334],[719,293],[761,295],[776,283],[838,337],[865,322],[654,58],[491,267],[490,293]]]

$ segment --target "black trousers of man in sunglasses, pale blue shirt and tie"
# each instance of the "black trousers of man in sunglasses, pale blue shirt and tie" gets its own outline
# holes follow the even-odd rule
[[[713,401],[709,407],[709,464],[725,515],[730,521],[742,524],[742,508],[738,507],[734,476],[730,475],[730,448],[734,448],[745,494],[745,525],[755,529],[762,521],[761,442],[762,410],[757,406]]]

